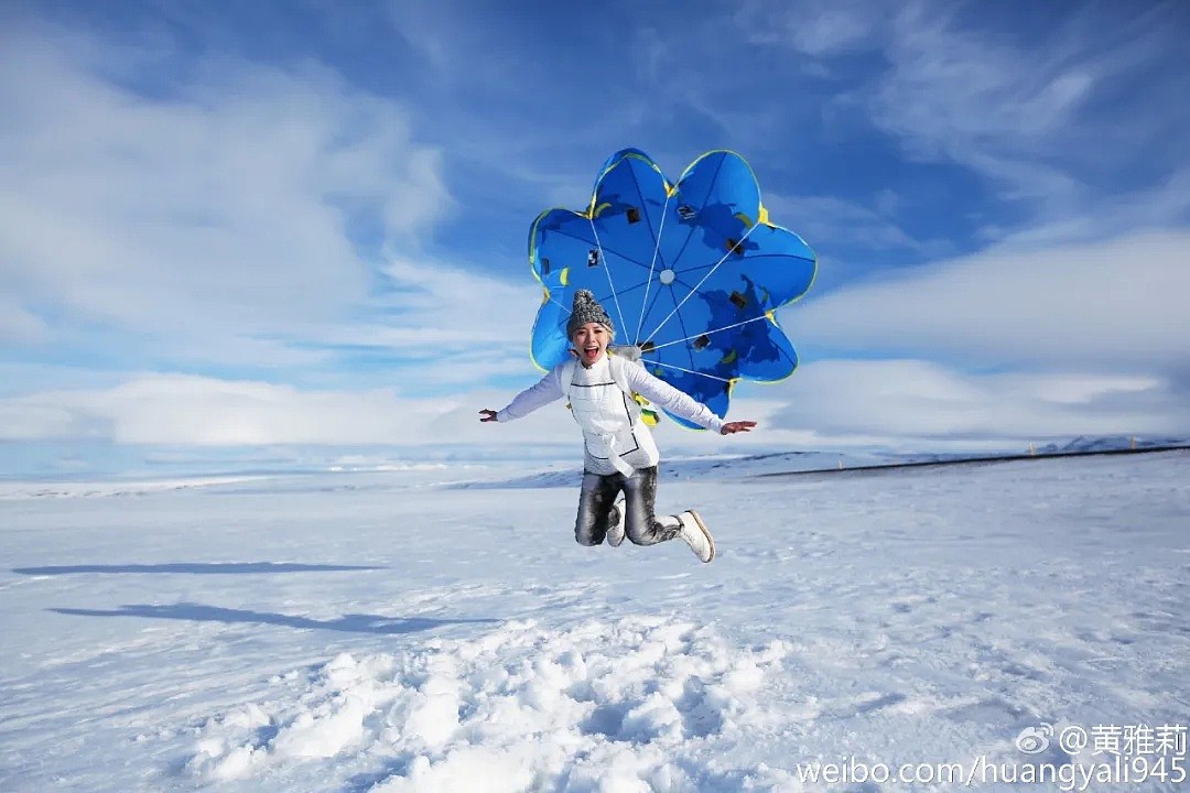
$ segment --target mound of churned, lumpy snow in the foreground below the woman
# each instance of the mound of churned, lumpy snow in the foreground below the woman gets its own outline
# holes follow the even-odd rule
[[[343,654],[296,697],[209,719],[188,769],[243,780],[355,754],[384,769],[377,793],[690,789],[715,773],[710,742],[769,718],[763,692],[787,654],[664,617]]]

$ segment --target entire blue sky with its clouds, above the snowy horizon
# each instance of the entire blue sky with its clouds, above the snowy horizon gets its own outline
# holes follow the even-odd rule
[[[820,257],[778,314],[802,366],[735,391],[762,432],[663,448],[1190,434],[1184,4],[6,2],[0,30],[11,473],[571,449],[560,407],[475,417],[537,378],[530,224],[626,146],[671,178],[739,151]]]

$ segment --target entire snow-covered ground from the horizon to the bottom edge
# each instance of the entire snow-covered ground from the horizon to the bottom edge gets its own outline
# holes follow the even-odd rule
[[[1190,454],[771,468],[666,468],[712,565],[565,471],[6,485],[0,791],[1190,787]]]

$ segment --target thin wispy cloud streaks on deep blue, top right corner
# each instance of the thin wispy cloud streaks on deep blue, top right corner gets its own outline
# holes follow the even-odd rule
[[[1145,159],[1172,165],[1147,144],[1190,119],[1141,97],[1154,68],[1176,64],[1176,12],[1101,11],[1073,8],[1026,39],[976,27],[953,6],[912,4],[884,39],[872,119],[912,156],[965,165],[1041,220],[1084,212],[1103,180],[1127,183]]]

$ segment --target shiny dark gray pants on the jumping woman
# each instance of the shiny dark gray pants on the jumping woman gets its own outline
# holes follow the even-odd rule
[[[682,523],[672,515],[653,515],[657,503],[657,466],[640,468],[631,477],[622,473],[583,474],[583,489],[578,496],[578,518],[575,521],[575,540],[582,546],[603,542],[610,521],[615,497],[624,492],[624,533],[638,546],[651,546],[672,540],[682,530]]]

